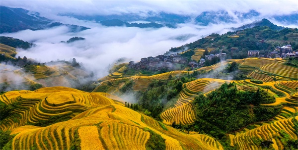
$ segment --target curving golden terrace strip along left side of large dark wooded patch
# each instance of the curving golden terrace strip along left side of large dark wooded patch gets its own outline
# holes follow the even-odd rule
[[[183,90],[180,92],[175,105],[160,114],[163,123],[168,125],[173,122],[183,125],[193,123],[196,116],[190,102],[198,93],[210,92],[219,88],[222,84],[224,84],[224,80],[207,78],[183,84]]]

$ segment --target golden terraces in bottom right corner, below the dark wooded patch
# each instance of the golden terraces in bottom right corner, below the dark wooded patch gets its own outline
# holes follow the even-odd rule
[[[298,116],[296,116],[296,119],[298,119]],[[253,138],[262,139],[262,141],[272,139],[274,142],[273,147],[276,148],[276,150],[283,149],[281,141],[274,138],[274,136],[278,135],[281,130],[284,130],[290,135],[291,139],[297,140],[297,133],[295,133],[293,127],[293,118],[275,121],[244,133],[230,135],[231,145],[238,145],[239,150],[260,150],[261,147],[254,142]]]

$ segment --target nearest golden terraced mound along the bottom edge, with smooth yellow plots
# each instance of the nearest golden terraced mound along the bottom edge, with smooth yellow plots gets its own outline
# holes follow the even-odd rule
[[[188,135],[168,126],[164,130],[154,119],[144,116],[142,121],[141,116],[130,108],[112,104],[91,108],[69,121],[47,127],[18,127],[12,130],[19,133],[12,141],[12,150],[70,150],[74,142],[82,150],[144,150],[151,137],[147,130],[165,139],[166,150],[223,150],[212,137]]]

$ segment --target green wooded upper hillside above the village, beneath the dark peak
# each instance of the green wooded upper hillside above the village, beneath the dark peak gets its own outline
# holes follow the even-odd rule
[[[269,55],[275,47],[291,44],[293,50],[298,50],[297,38],[298,29],[285,28],[283,30],[275,30],[268,26],[256,26],[244,30],[227,32],[224,35],[211,34],[206,38],[199,39],[195,42],[185,44],[181,47],[171,48],[168,52],[177,52],[188,49],[212,49],[207,54],[215,54],[221,52],[226,53],[225,59],[242,59],[248,57],[248,50],[260,50],[259,55]],[[230,38],[231,36],[239,36]],[[287,37],[285,42],[284,37]],[[231,51],[231,48],[238,48],[236,51]],[[205,57],[203,54],[203,58]],[[209,60],[210,61],[210,60]],[[214,60],[215,61],[215,60]],[[213,63],[206,61],[205,66]]]

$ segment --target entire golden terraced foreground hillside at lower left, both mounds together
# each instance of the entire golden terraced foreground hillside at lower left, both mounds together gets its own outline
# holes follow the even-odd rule
[[[21,115],[19,122],[26,120],[27,125],[26,123],[22,124],[25,126],[16,125],[20,123],[9,117],[1,122],[2,130],[11,129],[11,134],[16,134],[10,143],[9,148],[12,150],[30,148],[38,150],[74,148],[144,150],[152,144],[157,146],[154,138],[161,140],[159,146],[164,143],[166,150],[223,150],[221,144],[212,137],[180,132],[124,107],[122,103],[108,99],[100,93],[53,87],[42,88],[34,92],[7,92],[2,95],[1,101],[6,104],[18,101],[18,105],[26,107],[24,110],[14,109],[13,113],[19,113]],[[80,111],[85,108],[87,110]],[[50,111],[53,112],[50,113]],[[72,119],[45,127],[28,125],[33,119],[41,121],[58,115],[57,111],[68,113],[68,117]],[[5,126],[3,122],[10,123]]]

